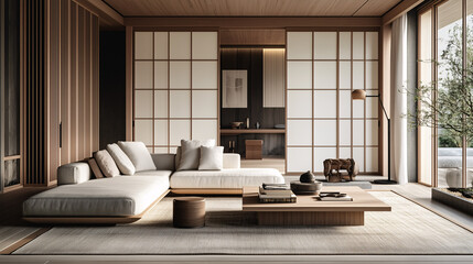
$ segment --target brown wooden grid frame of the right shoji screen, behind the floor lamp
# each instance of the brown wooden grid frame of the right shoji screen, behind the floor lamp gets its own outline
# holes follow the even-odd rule
[[[288,98],[288,94],[289,94],[289,91],[297,91],[297,90],[302,90],[302,91],[311,91],[311,95],[312,95],[312,118],[289,118],[288,117],[288,99],[286,99],[287,101],[286,101],[286,106],[287,106],[287,110],[286,110],[286,116],[287,116],[287,122],[286,122],[286,125],[287,125],[287,128],[288,128],[288,121],[290,121],[290,120],[311,120],[312,121],[312,144],[311,145],[289,145],[288,144],[288,133],[286,134],[286,174],[288,174],[288,175],[290,175],[290,174],[300,174],[300,173],[302,173],[302,172],[288,172],[288,148],[291,148],[291,147],[294,147],[294,148],[297,148],[297,147],[304,147],[304,148],[311,148],[311,153],[312,153],[312,164],[311,164],[311,168],[312,168],[312,170],[314,172],[315,170],[315,164],[314,164],[314,150],[315,148],[323,148],[323,147],[330,147],[330,148],[335,148],[335,151],[336,151],[336,157],[340,157],[340,148],[341,147],[350,147],[351,148],[351,156],[353,157],[353,151],[354,151],[354,147],[363,147],[363,153],[364,153],[364,170],[366,170],[366,164],[367,164],[367,158],[366,158],[366,153],[367,153],[367,147],[377,147],[378,148],[378,170],[377,172],[362,172],[362,173],[364,173],[364,174],[379,174],[380,172],[381,172],[381,168],[383,168],[383,155],[381,155],[381,151],[383,151],[383,138],[380,136],[381,134],[383,134],[383,128],[379,125],[380,124],[380,120],[381,120],[381,116],[380,116],[380,106],[379,106],[379,103],[377,103],[377,118],[367,118],[366,116],[367,116],[367,103],[366,103],[366,101],[364,101],[364,108],[363,108],[363,118],[354,118],[353,117],[353,100],[351,100],[351,118],[341,118],[340,117],[340,92],[342,91],[342,90],[353,90],[353,63],[354,62],[363,62],[363,67],[364,67],[364,70],[363,70],[363,78],[364,78],[364,90],[366,90],[366,91],[378,91],[378,94],[380,95],[380,90],[381,90],[381,70],[379,70],[380,69],[380,59],[381,59],[381,56],[380,56],[380,37],[381,37],[381,35],[380,35],[380,31],[379,31],[379,29],[373,29],[373,28],[369,28],[369,29],[311,29],[311,30],[307,30],[307,29],[302,29],[302,30],[299,30],[299,29],[294,29],[294,30],[288,30],[287,31],[287,35],[286,35],[286,42],[288,43],[288,33],[289,32],[311,32],[311,42],[312,42],[312,50],[311,50],[311,54],[312,54],[312,58],[311,59],[309,59],[309,58],[307,58],[307,59],[289,59],[288,58],[288,56],[287,56],[287,54],[288,53],[286,53],[286,62],[287,62],[287,66],[286,66],[286,75],[287,75],[287,84],[286,84],[286,86],[287,86],[287,95],[286,95],[286,98]],[[315,54],[314,54],[314,33],[315,32],[335,32],[336,33],[336,57],[335,57],[335,59],[316,59],[314,56],[315,56]],[[350,32],[350,34],[351,34],[351,58],[350,59],[341,59],[340,58],[340,34],[342,33],[342,32]],[[354,57],[353,57],[353,33],[354,32],[363,32],[363,41],[364,41],[364,43],[363,43],[363,50],[364,50],[364,57],[363,58],[359,58],[359,59],[355,59]],[[376,32],[377,34],[378,34],[378,41],[376,42],[377,43],[377,45],[378,45],[378,58],[377,59],[368,59],[366,56],[367,56],[367,53],[366,53],[366,41],[367,41],[367,32]],[[289,82],[288,82],[288,79],[289,79],[289,76],[288,76],[288,63],[289,62],[311,62],[311,68],[312,68],[312,72],[311,72],[311,75],[312,75],[312,88],[308,88],[308,89],[301,89],[301,88],[289,88]],[[315,62],[335,62],[336,63],[336,88],[335,89],[324,89],[324,88],[314,88],[315,87],[315,84],[314,84],[314,63]],[[340,88],[340,63],[341,62],[350,62],[351,63],[351,89],[347,89],[347,88]],[[377,85],[378,85],[378,87],[377,87],[377,89],[373,89],[373,88],[370,88],[370,89],[367,89],[366,88],[366,81],[367,81],[367,78],[366,78],[366,76],[367,76],[367,73],[366,73],[366,64],[367,64],[367,62],[377,62],[377,65],[378,65],[378,82],[377,82]],[[315,112],[314,112],[314,108],[315,108],[315,106],[314,106],[314,94],[315,94],[315,91],[320,91],[320,90],[330,90],[330,91],[335,91],[335,94],[336,94],[336,117],[335,118],[315,118]],[[315,136],[316,135],[314,135],[314,131],[313,131],[313,129],[314,129],[314,122],[316,121],[316,120],[333,120],[333,121],[335,121],[336,122],[336,145],[316,145],[315,144]],[[340,122],[341,121],[343,121],[343,120],[350,120],[351,121],[351,145],[342,145],[342,144],[340,144],[340,141],[341,141],[341,133],[340,133]],[[354,145],[353,144],[353,121],[355,121],[355,120],[363,120],[363,127],[364,127],[364,135],[363,135],[363,138],[364,138],[364,144],[363,145]],[[378,121],[378,144],[377,145],[369,145],[369,144],[367,144],[367,135],[366,135],[366,123],[367,123],[367,121],[369,121],[369,120],[373,120],[373,121]],[[321,174],[320,172],[315,172],[316,174]]]

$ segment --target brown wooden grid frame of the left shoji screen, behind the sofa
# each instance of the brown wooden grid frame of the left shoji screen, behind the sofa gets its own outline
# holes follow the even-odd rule
[[[175,148],[175,147],[178,147],[179,145],[173,145],[173,144],[171,144],[171,121],[173,121],[173,120],[185,120],[185,121],[189,121],[190,122],[190,139],[192,140],[193,139],[193,121],[195,121],[195,120],[205,120],[205,121],[215,121],[216,122],[216,128],[215,128],[215,132],[216,132],[216,134],[215,134],[215,136],[216,136],[216,141],[217,141],[217,144],[219,143],[219,139],[218,139],[218,134],[219,134],[219,127],[218,127],[218,123],[219,123],[219,100],[218,100],[218,97],[219,97],[219,90],[218,90],[218,84],[219,84],[219,74],[218,74],[218,69],[219,69],[219,37],[218,37],[218,35],[219,35],[219,32],[217,31],[217,30],[213,30],[213,29],[202,29],[202,30],[200,30],[200,29],[161,29],[161,28],[154,28],[154,29],[131,29],[131,32],[132,32],[132,44],[133,44],[133,46],[135,46],[135,41],[136,41],[136,33],[137,32],[148,32],[148,33],[152,33],[152,56],[153,56],[153,58],[152,59],[137,59],[136,57],[135,57],[135,48],[132,48],[131,50],[131,52],[132,52],[132,63],[131,63],[131,65],[132,65],[132,68],[133,68],[133,70],[132,70],[132,84],[130,84],[131,86],[132,86],[132,108],[131,108],[131,111],[132,111],[132,129],[131,129],[131,132],[132,132],[132,135],[131,135],[131,140],[136,140],[136,125],[135,125],[135,121],[137,121],[137,120],[151,120],[152,121],[152,145],[147,145],[147,147],[149,147],[149,148],[151,148],[151,152],[152,153],[154,153],[155,151],[157,151],[157,148],[168,148],[168,153],[174,153],[174,150],[173,148]],[[168,50],[166,50],[166,52],[168,52],[168,57],[165,58],[165,59],[163,59],[163,58],[160,58],[160,59],[157,59],[157,58],[154,58],[154,33],[155,32],[165,32],[165,33],[168,33]],[[171,41],[171,32],[189,32],[190,33],[190,35],[191,35],[191,37],[190,37],[190,58],[185,58],[185,59],[183,59],[183,58],[171,58],[170,57],[170,41]],[[217,43],[216,43],[216,59],[196,59],[196,58],[194,58],[194,56],[193,56],[193,34],[195,33],[195,32],[214,32],[214,33],[216,33],[217,34]],[[152,63],[152,88],[136,88],[135,87],[135,75],[136,75],[136,69],[135,69],[135,63],[136,62],[151,62]],[[154,63],[155,62],[164,62],[164,63],[166,63],[166,67],[168,67],[168,84],[166,84],[166,88],[155,88],[154,87]],[[190,88],[185,88],[185,89],[180,89],[180,88],[171,88],[171,63],[172,62],[189,62],[190,63],[190,81],[191,81],[191,84],[190,84]],[[194,62],[215,62],[216,63],[216,69],[218,70],[217,73],[216,73],[216,76],[217,76],[217,78],[216,78],[216,84],[215,84],[215,88],[198,88],[198,89],[194,89],[194,87],[193,87],[193,63]],[[128,64],[128,63],[127,63]],[[135,108],[135,95],[136,95],[136,91],[137,90],[151,90],[152,91],[152,118],[137,118],[136,117],[136,108]],[[155,107],[155,102],[154,102],[154,94],[155,94],[155,91],[157,90],[165,90],[166,92],[168,92],[168,109],[166,109],[166,114],[168,114],[168,117],[166,118],[157,118],[155,116],[154,116],[154,107]],[[190,117],[189,118],[171,118],[171,91],[189,91],[190,92]],[[194,114],[193,114],[193,110],[192,110],[192,99],[193,99],[193,91],[216,91],[216,118],[195,118],[195,117],[193,117]],[[168,141],[168,144],[166,145],[158,145],[158,144],[155,144],[155,139],[154,139],[154,130],[155,130],[155,121],[157,120],[163,120],[163,121],[168,121],[168,139],[166,139],[166,141]]]

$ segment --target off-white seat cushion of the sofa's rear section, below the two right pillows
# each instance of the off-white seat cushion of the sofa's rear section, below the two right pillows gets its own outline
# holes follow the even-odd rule
[[[262,183],[283,184],[275,168],[238,168],[223,170],[181,170],[171,175],[171,188],[243,188]]]

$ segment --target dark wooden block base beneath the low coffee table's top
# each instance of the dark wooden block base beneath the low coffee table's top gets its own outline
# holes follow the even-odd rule
[[[260,226],[364,226],[363,211],[259,211]]]

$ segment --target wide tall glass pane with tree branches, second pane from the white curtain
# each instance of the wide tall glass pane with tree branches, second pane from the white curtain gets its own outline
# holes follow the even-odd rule
[[[451,129],[462,122],[462,114],[442,111],[444,99],[454,96],[462,81],[462,0],[450,0],[438,7],[437,97],[438,107],[438,186],[462,187],[463,138]],[[448,109],[448,108],[445,108]]]

